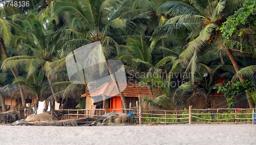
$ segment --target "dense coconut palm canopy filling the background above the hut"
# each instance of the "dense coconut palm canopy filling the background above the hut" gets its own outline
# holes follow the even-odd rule
[[[255,15],[248,10],[255,10],[255,3],[57,0],[44,1],[37,9],[24,9],[12,16],[0,9],[0,82],[6,85],[11,81],[20,88],[8,85],[2,94],[12,99],[22,97],[24,106],[25,98],[33,97],[76,106],[88,86],[70,82],[66,56],[100,41],[105,59],[123,62],[127,81],[160,90],[157,97],[166,101],[159,101],[158,106],[183,106],[190,99],[182,98],[193,96],[206,97],[207,101],[217,91],[217,84],[256,80]],[[240,13],[246,16],[237,17]],[[227,38],[227,34],[232,36]],[[154,73],[159,76],[156,81],[150,80]],[[5,79],[10,75],[14,77]],[[220,77],[223,82],[218,82]],[[182,88],[181,82],[189,88]],[[246,95],[253,107],[251,96]],[[126,104],[125,99],[122,101]]]

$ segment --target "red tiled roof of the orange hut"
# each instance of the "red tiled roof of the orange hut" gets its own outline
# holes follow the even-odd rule
[[[121,87],[122,85],[125,85],[125,83],[118,83]],[[126,89],[123,90],[124,97],[138,97],[139,95],[143,96],[149,96],[150,91],[148,91],[147,86],[137,86],[137,83],[135,82],[127,82],[126,83]],[[115,83],[113,81],[106,82],[99,86],[98,88],[92,90],[94,96],[91,96],[90,93],[83,94],[81,97],[96,97],[100,95],[105,96],[116,96],[120,97],[118,90],[115,86]]]

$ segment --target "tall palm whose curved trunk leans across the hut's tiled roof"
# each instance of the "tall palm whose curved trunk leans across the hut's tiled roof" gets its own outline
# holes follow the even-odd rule
[[[136,30],[136,33],[141,32],[143,21],[140,20],[138,14],[147,15],[148,10],[141,9],[140,4],[133,5],[130,1],[115,0],[56,1],[54,14],[63,12],[68,14],[66,21],[70,27],[69,30],[72,31],[66,31],[63,35],[63,39],[67,40],[65,46],[71,46],[71,49],[74,49],[74,47],[83,46],[81,43],[84,41],[88,43],[100,41],[107,57],[110,49],[114,48],[117,53],[120,52],[118,42],[124,42],[125,38],[132,34],[131,32],[136,32]],[[70,34],[78,37],[70,39]],[[108,70],[112,72],[109,67]],[[113,81],[115,82],[114,79]],[[123,108],[126,109],[126,101],[118,85],[117,89]]]

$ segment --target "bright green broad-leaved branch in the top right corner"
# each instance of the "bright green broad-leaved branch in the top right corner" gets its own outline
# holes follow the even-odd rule
[[[226,39],[232,37],[238,28],[248,27],[255,28],[256,19],[249,20],[251,16],[256,15],[256,1],[247,0],[244,2],[243,7],[234,12],[234,15],[229,16],[220,28],[222,36]],[[239,36],[242,34],[240,32]]]

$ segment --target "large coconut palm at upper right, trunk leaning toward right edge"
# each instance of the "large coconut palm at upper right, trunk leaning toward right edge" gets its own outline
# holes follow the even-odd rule
[[[230,49],[223,45],[223,38],[220,31],[216,31],[225,18],[233,13],[234,10],[242,6],[243,1],[170,1],[164,3],[159,9],[158,14],[172,14],[164,25],[158,26],[153,34],[153,38],[167,37],[176,31],[188,31],[186,49],[180,55],[182,62],[195,68],[197,54],[206,43],[221,43],[221,49],[225,49],[236,72],[239,71],[237,62],[234,60]],[[227,5],[228,4],[228,5]],[[195,38],[195,39],[194,39]],[[191,68],[195,73],[195,69]],[[240,77],[240,81],[244,81]],[[248,97],[248,93],[247,97]],[[250,108],[253,105],[248,100]]]

